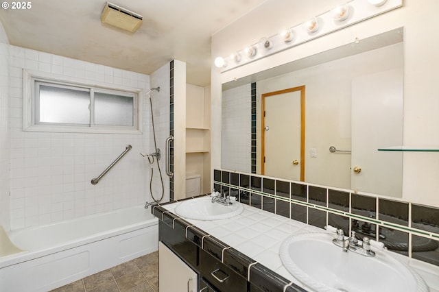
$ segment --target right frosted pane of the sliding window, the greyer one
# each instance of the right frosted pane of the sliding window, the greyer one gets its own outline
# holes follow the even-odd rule
[[[95,125],[134,125],[134,97],[99,92],[94,97]]]

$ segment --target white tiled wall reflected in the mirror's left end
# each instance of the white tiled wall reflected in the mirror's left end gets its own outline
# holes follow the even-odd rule
[[[228,89],[222,93],[222,169],[252,172],[250,85]],[[227,143],[227,141],[235,142]]]

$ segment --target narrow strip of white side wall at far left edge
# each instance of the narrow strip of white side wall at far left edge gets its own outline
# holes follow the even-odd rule
[[[0,225],[10,229],[9,41],[0,23]]]

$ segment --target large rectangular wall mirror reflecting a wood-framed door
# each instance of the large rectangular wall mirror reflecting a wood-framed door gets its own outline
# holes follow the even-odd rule
[[[294,88],[303,88],[302,104],[285,106],[300,99]],[[403,28],[228,82],[222,90],[222,169],[401,197],[402,153],[378,149],[403,145]],[[281,134],[268,135],[274,132]],[[302,173],[294,176],[297,167]]]

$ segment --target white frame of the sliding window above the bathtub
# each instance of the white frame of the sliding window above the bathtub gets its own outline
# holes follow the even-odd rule
[[[73,90],[85,90],[90,94],[90,123],[47,123],[36,121],[36,106],[39,100],[38,84]],[[132,97],[133,125],[96,125],[94,119],[94,93],[104,93]],[[23,69],[23,131],[34,132],[83,132],[83,133],[113,133],[113,134],[142,134],[143,88],[130,86],[112,86],[104,82],[89,82],[75,77],[42,73]]]

